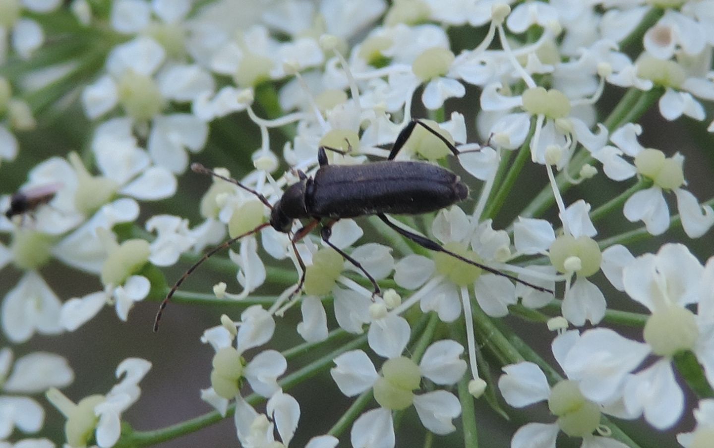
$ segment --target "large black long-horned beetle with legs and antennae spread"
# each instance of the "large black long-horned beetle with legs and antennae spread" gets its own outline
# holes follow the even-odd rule
[[[446,168],[441,168],[440,166],[426,162],[393,160],[417,125],[423,126],[423,128],[426,128],[427,131],[443,141],[455,156],[460,154],[458,149],[456,149],[451,142],[446,140],[446,138],[441,136],[441,134],[431,129],[425,123],[414,120],[399,133],[386,161],[351,166],[329,165],[325,150],[343,154],[346,152],[321,146],[318,148],[318,163],[320,164],[320,168],[318,168],[314,177],[308,177],[305,173],[298,172],[300,176],[298,183],[289,186],[275,205],[271,205],[265,196],[246,187],[246,185],[214,173],[213,170],[208,170],[208,168],[198,163],[193,163],[191,169],[196,173],[206,173],[216,176],[217,178],[234,183],[238,185],[238,187],[243,188],[243,190],[256,195],[263,204],[271,209],[271,218],[268,223],[258,225],[258,227],[253,230],[231,238],[222,245],[213,248],[213,250],[203,255],[201,260],[198,260],[191,268],[188,268],[186,273],[179,278],[174,287],[171,288],[171,291],[166,295],[164,301],[161,302],[159,311],[156,313],[156,320],[154,321],[154,331],[159,328],[161,312],[166,307],[171,296],[174,295],[174,292],[176,292],[183,280],[208,257],[218,252],[218,250],[228,248],[229,245],[241,238],[257,233],[268,225],[278,230],[278,232],[291,235],[291,228],[296,219],[310,219],[311,221],[294,233],[294,235],[291,235],[291,244],[293,245],[298,264],[303,271],[300,281],[298,282],[298,287],[293,294],[302,289],[305,282],[306,271],[295,244],[310,233],[311,230],[316,228],[317,225],[321,224],[322,220],[328,220],[326,223],[323,223],[321,227],[320,235],[322,240],[366,275],[372,282],[374,295],[380,293],[380,288],[376,280],[374,280],[362,265],[330,242],[330,236],[332,234],[331,228],[334,223],[342,218],[356,218],[366,215],[377,215],[386,225],[424,248],[447,253],[464,263],[475,265],[490,273],[510,278],[511,280],[533,287],[539,291],[552,293],[552,291],[544,287],[533,285],[513,275],[508,275],[496,269],[489,268],[486,265],[482,265],[481,263],[468,260],[468,258],[464,258],[461,255],[451,252],[451,250],[443,248],[440,244],[436,243],[436,241],[399,227],[386,216],[386,213],[396,215],[420,215],[422,213],[433,212],[458,203],[468,197],[468,188],[466,185],[459,180],[458,175]]]

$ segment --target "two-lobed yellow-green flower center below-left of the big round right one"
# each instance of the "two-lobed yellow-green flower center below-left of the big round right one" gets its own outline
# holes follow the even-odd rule
[[[583,397],[574,381],[561,381],[550,390],[548,408],[558,417],[560,430],[570,437],[592,434],[600,424],[600,407]]]

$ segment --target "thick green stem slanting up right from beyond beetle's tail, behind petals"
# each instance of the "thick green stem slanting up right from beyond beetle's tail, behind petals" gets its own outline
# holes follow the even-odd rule
[[[619,126],[622,126],[623,123],[637,121],[646,111],[648,111],[650,106],[652,106],[653,103],[660,98],[662,93],[663,89],[661,88],[653,88],[647,92],[639,91],[636,88],[630,88],[630,90],[625,93],[625,96],[623,96],[620,100],[618,105],[615,106],[615,109],[612,113],[610,113],[610,116],[608,116],[608,118],[606,118],[603,122],[605,128],[608,128],[608,131],[612,132]],[[580,151],[570,160],[568,168],[566,169],[571,172],[578,173],[580,168],[582,168],[585,163],[592,160],[593,159],[590,157],[590,153],[581,148]],[[563,173],[558,173],[558,175],[555,176],[555,181],[558,185],[560,193],[565,193],[570,189],[570,187],[573,186],[573,184],[568,182]],[[546,185],[543,190],[540,190],[540,193],[535,196],[531,203],[523,209],[521,216],[524,218],[539,216],[545,210],[548,210],[548,208],[553,205],[554,201],[553,190],[550,189],[550,185]]]

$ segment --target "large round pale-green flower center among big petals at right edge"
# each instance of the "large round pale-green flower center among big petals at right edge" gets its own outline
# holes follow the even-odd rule
[[[695,315],[685,307],[671,305],[655,310],[645,324],[643,337],[655,355],[673,356],[691,350],[699,332]]]

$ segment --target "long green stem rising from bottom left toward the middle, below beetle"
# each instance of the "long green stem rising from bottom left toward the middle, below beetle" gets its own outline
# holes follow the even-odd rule
[[[290,375],[286,375],[282,380],[278,381],[283,390],[288,390],[291,387],[300,384],[310,378],[318,375],[318,373],[327,370],[333,364],[333,360],[344,352],[349,350],[354,350],[358,347],[365,345],[367,342],[367,335],[361,335],[346,343],[337,350],[318,358],[317,360],[311,362],[310,364],[301,367]],[[259,402],[265,401],[265,397],[261,397],[258,394],[251,394],[246,397],[246,402],[251,405],[256,405]],[[231,417],[233,413],[236,412],[236,404],[231,404],[228,407],[228,412],[226,412],[226,417]],[[121,440],[116,447],[148,447],[150,445],[158,444],[160,442],[166,442],[167,440],[176,439],[183,435],[189,434],[191,432],[196,432],[199,429],[210,426],[211,424],[221,421],[224,417],[218,413],[218,411],[208,412],[206,414],[200,415],[196,418],[186,420],[185,422],[173,424],[169,427],[154,429],[151,431],[134,431],[122,434]]]

